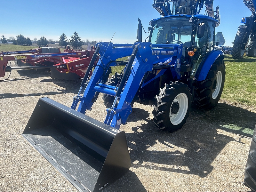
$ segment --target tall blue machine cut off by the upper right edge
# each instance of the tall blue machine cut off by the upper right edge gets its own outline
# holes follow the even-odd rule
[[[256,12],[254,7],[256,0],[243,0],[243,2],[250,9],[252,15],[241,20],[241,23],[245,25],[238,27],[233,45],[233,59],[242,59],[246,55],[256,57]]]

